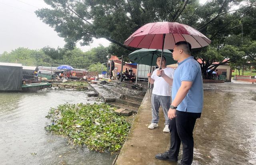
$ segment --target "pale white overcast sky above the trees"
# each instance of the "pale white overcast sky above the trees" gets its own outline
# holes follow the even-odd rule
[[[200,0],[201,3],[206,0]],[[65,42],[52,28],[44,24],[34,11],[47,8],[43,0],[0,0],[0,54],[18,47],[41,49],[44,46],[63,47]],[[94,39],[90,46],[77,47],[83,51],[108,46],[106,39]]]

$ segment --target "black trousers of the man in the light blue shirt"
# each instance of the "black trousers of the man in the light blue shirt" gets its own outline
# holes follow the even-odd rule
[[[182,143],[182,165],[191,165],[193,161],[194,138],[193,130],[196,119],[201,113],[181,112],[176,110],[176,118],[169,120],[170,156],[178,158],[180,143]]]

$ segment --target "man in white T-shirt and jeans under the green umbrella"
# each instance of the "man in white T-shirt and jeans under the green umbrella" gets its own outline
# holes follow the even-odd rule
[[[161,57],[156,59],[156,65],[160,68]],[[170,77],[169,81],[164,80],[162,77],[156,75],[157,69],[152,73],[148,73],[148,81],[150,84],[154,84],[154,88],[151,96],[151,106],[152,106],[152,121],[148,126],[149,129],[154,129],[158,127],[159,122],[159,107],[162,106],[165,118],[165,127],[163,132],[170,132],[169,130],[169,118],[168,110],[171,104],[171,90],[172,90],[172,80],[174,69],[166,67],[166,59],[162,57],[162,70],[164,73]]]

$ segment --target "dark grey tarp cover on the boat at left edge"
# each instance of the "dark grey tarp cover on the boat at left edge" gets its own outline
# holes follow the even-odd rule
[[[0,92],[21,90],[22,67],[0,64]]]

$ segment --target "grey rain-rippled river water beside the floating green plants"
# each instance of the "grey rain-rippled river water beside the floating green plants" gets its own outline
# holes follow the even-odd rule
[[[70,145],[44,129],[50,107],[94,101],[79,91],[0,93],[0,165],[111,165],[116,155]]]

